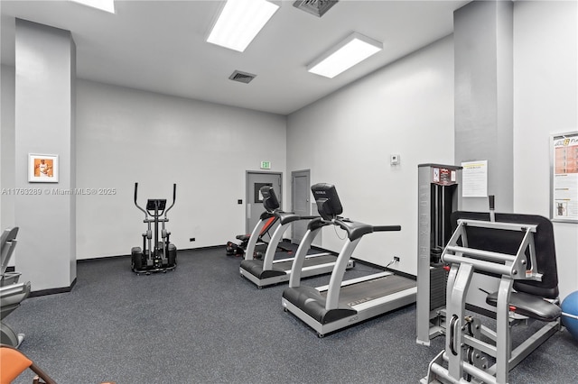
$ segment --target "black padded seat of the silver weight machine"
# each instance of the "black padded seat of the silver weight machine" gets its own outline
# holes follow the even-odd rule
[[[490,306],[498,305],[498,292],[490,293],[486,297]],[[541,297],[528,295],[524,292],[512,292],[509,297],[510,306],[515,306],[514,312],[541,321],[555,321],[562,315],[562,309]]]

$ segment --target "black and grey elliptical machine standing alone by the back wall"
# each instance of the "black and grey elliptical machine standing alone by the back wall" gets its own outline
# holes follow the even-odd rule
[[[177,267],[177,248],[169,241],[170,232],[165,223],[169,221],[168,212],[174,206],[177,196],[177,185],[172,185],[172,205],[166,208],[166,199],[149,198],[146,209],[136,202],[138,183],[135,183],[135,206],[144,212],[144,223],[148,229],[143,233],[143,248],[133,247],[131,250],[131,268],[136,274],[151,272],[166,272]],[[166,209],[165,209],[166,208]],[[162,218],[161,216],[164,217]],[[154,242],[151,226],[154,223]],[[159,223],[161,223],[161,241],[159,242]]]

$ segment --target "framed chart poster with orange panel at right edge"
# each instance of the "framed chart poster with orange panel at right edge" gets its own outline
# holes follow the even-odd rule
[[[578,132],[554,134],[550,142],[551,219],[578,223]]]

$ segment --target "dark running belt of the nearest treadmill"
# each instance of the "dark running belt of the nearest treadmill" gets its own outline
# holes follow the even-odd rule
[[[414,288],[415,286],[415,280],[397,275],[388,275],[351,284],[350,286],[341,287],[340,305],[356,306],[366,301],[385,297],[408,288]],[[322,296],[327,297],[327,291],[322,292]]]

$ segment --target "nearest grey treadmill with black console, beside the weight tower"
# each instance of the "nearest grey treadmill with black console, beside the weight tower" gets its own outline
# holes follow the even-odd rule
[[[369,225],[353,222],[339,215],[343,212],[335,186],[315,184],[312,188],[317,208],[322,216],[308,225],[303,242],[295,255],[289,288],[284,289],[284,310],[299,317],[312,327],[319,337],[355,325],[368,318],[385,314],[415,303],[417,286],[407,279],[384,271],[358,279],[343,281],[347,262],[361,238],[374,232],[400,231],[399,225]],[[331,272],[329,285],[312,288],[301,285],[301,270],[305,258],[304,246],[327,224],[347,232],[347,240]]]

